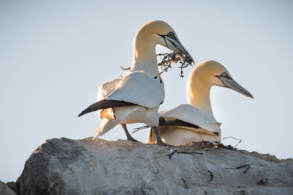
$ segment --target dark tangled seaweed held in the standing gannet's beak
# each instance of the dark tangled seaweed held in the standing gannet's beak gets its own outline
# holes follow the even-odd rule
[[[168,68],[171,68],[171,63],[174,62],[174,63],[177,63],[179,62],[181,64],[180,67],[180,74],[179,76],[180,77],[183,77],[183,68],[186,68],[188,65],[191,65],[188,63],[188,58],[185,57],[185,60],[183,60],[182,58],[179,57],[179,55],[183,55],[185,56],[186,54],[188,54],[187,51],[185,52],[181,52],[181,51],[174,51],[173,53],[166,53],[166,54],[158,54],[157,56],[162,56],[161,59],[162,61],[160,63],[158,63],[158,66],[161,66],[161,70],[162,72],[160,72],[159,74],[157,74],[155,76],[155,79],[158,78],[159,76],[159,79],[160,79],[160,82],[162,83],[162,80],[161,80],[161,74],[163,72],[167,72]],[[192,66],[192,65],[191,65]],[[164,68],[163,68],[164,67]]]

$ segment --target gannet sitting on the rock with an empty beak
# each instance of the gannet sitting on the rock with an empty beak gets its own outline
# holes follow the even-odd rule
[[[209,96],[214,85],[228,87],[253,98],[251,93],[232,79],[223,65],[216,61],[202,62],[189,75],[186,87],[188,104],[180,104],[170,111],[159,113],[159,134],[164,143],[182,145],[190,141],[221,139],[221,123],[214,118]],[[149,129],[147,143],[155,142],[152,130]]]

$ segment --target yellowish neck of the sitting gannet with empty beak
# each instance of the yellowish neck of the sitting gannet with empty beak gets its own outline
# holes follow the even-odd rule
[[[209,82],[205,82],[200,77],[196,77],[193,72],[188,78],[188,84],[186,87],[188,104],[200,109],[204,115],[214,119],[211,100],[210,90],[212,85]]]

